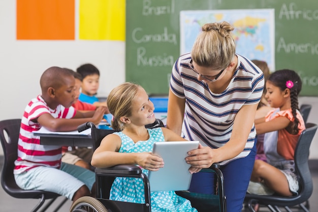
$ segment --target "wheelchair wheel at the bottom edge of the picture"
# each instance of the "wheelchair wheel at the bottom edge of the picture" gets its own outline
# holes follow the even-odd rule
[[[108,212],[108,210],[99,200],[85,196],[73,203],[70,212]]]

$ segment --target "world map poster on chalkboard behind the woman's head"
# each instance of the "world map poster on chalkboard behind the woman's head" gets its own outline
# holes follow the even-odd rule
[[[221,21],[234,26],[236,53],[263,60],[270,70],[275,70],[274,9],[181,11],[180,53],[191,51],[205,23]]]

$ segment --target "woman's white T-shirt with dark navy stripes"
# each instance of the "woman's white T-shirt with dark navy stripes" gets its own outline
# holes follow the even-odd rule
[[[182,133],[186,139],[199,140],[211,148],[223,146],[231,138],[234,119],[240,108],[260,102],[264,88],[263,72],[249,59],[238,54],[237,57],[238,65],[231,82],[221,94],[212,93],[205,82],[198,80],[198,74],[189,68],[190,53],[181,55],[174,64],[170,88],[177,97],[185,98]],[[244,150],[231,160],[246,157],[254,145],[255,136],[253,126]]]

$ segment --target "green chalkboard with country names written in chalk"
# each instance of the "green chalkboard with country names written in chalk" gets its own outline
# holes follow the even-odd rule
[[[168,94],[180,55],[180,11],[274,9],[274,70],[293,69],[301,96],[318,96],[318,4],[313,0],[128,0],[126,81],[149,94]],[[250,58],[258,59],[258,58]]]

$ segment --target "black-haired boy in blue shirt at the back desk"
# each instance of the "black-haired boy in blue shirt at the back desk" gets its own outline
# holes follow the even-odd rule
[[[84,64],[76,70],[81,74],[83,78],[82,93],[80,94],[79,100],[93,104],[94,106],[106,106],[107,102],[100,102],[95,96],[99,88],[100,71],[92,64]]]

